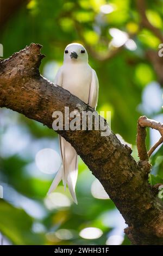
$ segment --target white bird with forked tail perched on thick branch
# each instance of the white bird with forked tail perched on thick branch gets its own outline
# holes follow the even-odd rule
[[[65,48],[64,63],[55,77],[55,84],[79,97],[89,106],[96,108],[98,101],[98,78],[95,70],[88,64],[88,55],[81,44],[69,44]],[[76,182],[78,176],[78,155],[76,150],[63,137],[59,136],[62,166],[58,170],[48,193],[58,186],[62,179],[70,190],[74,202],[76,198]]]

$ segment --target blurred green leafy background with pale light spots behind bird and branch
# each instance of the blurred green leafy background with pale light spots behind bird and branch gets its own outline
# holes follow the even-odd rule
[[[137,119],[163,122],[162,16],[162,0],[0,0],[3,58],[39,43],[40,72],[53,82],[65,46],[82,43],[99,79],[97,110],[111,111],[111,129],[138,160]],[[123,217],[82,160],[78,205],[62,184],[46,195],[61,164],[57,133],[1,108],[0,136],[1,244],[130,245]],[[148,132],[147,147],[157,139]],[[151,159],[152,184],[163,183],[162,153]]]

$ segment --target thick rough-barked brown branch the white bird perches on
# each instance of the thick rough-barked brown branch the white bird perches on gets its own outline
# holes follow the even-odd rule
[[[0,107],[7,107],[52,128],[54,111],[69,106],[93,111],[78,97],[54,86],[39,73],[40,45],[31,44],[0,62]],[[100,131],[57,131],[82,157],[93,175],[102,183],[109,197],[123,215],[125,230],[134,245],[163,244],[163,204],[158,190],[148,184],[150,164],[136,161],[131,149],[111,132],[101,137]]]

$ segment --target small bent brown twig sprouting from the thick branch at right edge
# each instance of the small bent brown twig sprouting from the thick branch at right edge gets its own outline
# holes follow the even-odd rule
[[[150,127],[160,132],[161,138],[156,142],[153,147],[148,151],[146,149],[146,127]],[[154,150],[163,142],[163,124],[155,120],[148,119],[143,116],[140,117],[137,122],[137,150],[141,161],[148,160],[148,157],[152,155]]]

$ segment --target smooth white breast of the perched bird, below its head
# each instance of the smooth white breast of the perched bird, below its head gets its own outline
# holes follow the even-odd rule
[[[89,100],[92,69],[87,63],[64,64],[62,87],[85,103]]]

